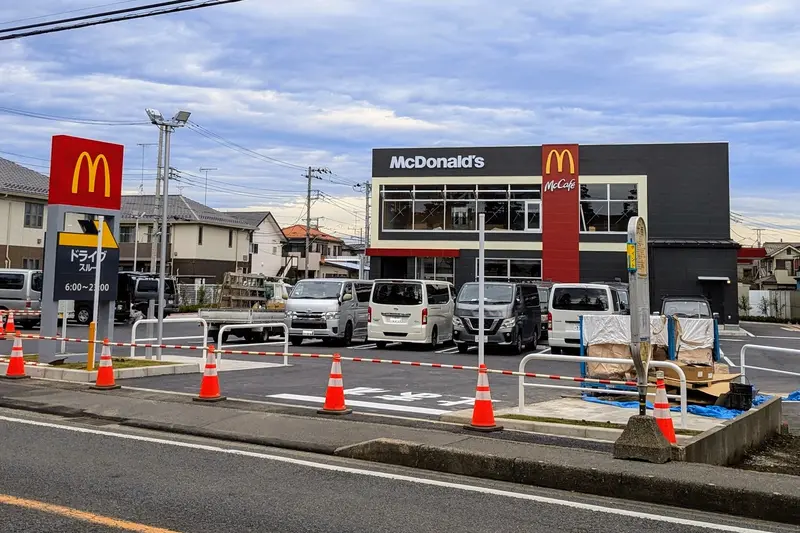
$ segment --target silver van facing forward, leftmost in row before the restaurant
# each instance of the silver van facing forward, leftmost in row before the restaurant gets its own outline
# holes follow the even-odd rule
[[[289,340],[299,346],[305,339],[366,340],[367,310],[372,281],[343,278],[303,279],[286,301]]]

